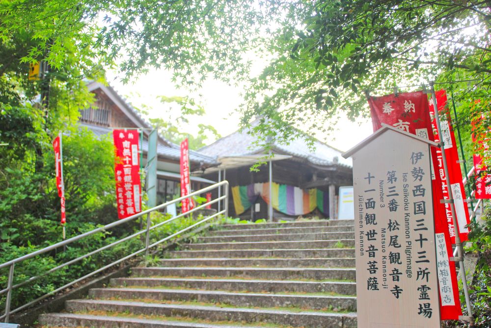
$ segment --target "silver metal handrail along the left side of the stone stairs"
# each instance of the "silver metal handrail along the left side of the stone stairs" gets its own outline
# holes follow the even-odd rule
[[[178,203],[178,202],[180,202],[180,201],[182,201],[184,199],[190,198],[192,196],[200,195],[200,194],[202,194],[204,192],[213,190],[215,188],[219,188],[222,185],[225,185],[225,188],[223,188],[225,190],[225,193],[224,193],[223,196],[220,196],[220,197],[218,197],[218,198],[216,198],[216,199],[214,199],[214,200],[212,200],[210,202],[207,202],[205,204],[202,204],[200,206],[194,207],[194,208],[190,209],[189,211],[187,211],[186,213],[181,213],[181,214],[176,215],[176,216],[174,216],[174,217],[172,217],[172,218],[170,218],[168,220],[165,220],[164,222],[160,222],[160,223],[158,223],[158,224],[156,224],[154,226],[151,226],[151,221],[150,221],[150,213],[151,212],[157,211],[159,209],[164,209],[164,208],[166,208],[169,205]],[[159,206],[156,206],[156,207],[154,207],[152,209],[146,209],[146,210],[144,210],[144,211],[142,211],[140,213],[134,214],[134,215],[129,216],[129,217],[125,218],[125,219],[122,219],[122,220],[119,220],[119,221],[116,221],[116,222],[109,223],[109,224],[107,224],[107,225],[105,225],[103,227],[99,227],[97,229],[94,229],[94,230],[91,230],[89,232],[83,233],[83,234],[81,234],[79,236],[75,236],[75,237],[72,237],[72,238],[69,238],[69,239],[60,241],[60,242],[55,243],[55,244],[53,244],[51,246],[45,247],[43,249],[37,250],[37,251],[32,252],[32,253],[29,253],[27,255],[18,257],[18,258],[14,259],[14,260],[5,262],[3,264],[0,264],[0,269],[1,268],[7,268],[7,267],[9,267],[9,273],[8,273],[8,279],[7,279],[7,288],[5,288],[3,290],[0,290],[0,295],[7,293],[7,297],[6,297],[6,300],[5,300],[5,312],[4,312],[3,315],[0,316],[0,320],[3,320],[4,319],[4,321],[8,323],[9,317],[10,317],[11,314],[17,313],[17,312],[19,312],[19,311],[21,311],[21,310],[23,310],[23,309],[25,309],[25,308],[33,305],[33,304],[39,302],[40,300],[43,300],[45,298],[48,298],[49,296],[54,295],[54,294],[58,293],[59,291],[62,291],[63,289],[65,289],[67,287],[70,287],[70,286],[72,286],[72,285],[74,285],[74,284],[76,284],[76,283],[78,283],[78,282],[80,282],[80,281],[82,281],[82,280],[84,280],[86,278],[89,278],[89,277],[91,277],[91,276],[93,276],[93,275],[95,275],[95,274],[97,274],[97,273],[99,273],[101,271],[104,271],[107,268],[110,268],[110,267],[115,266],[115,265],[117,265],[117,264],[119,264],[121,262],[124,262],[124,261],[126,261],[126,260],[128,260],[128,259],[130,259],[130,258],[132,258],[132,257],[134,257],[136,255],[138,255],[138,254],[141,254],[141,253],[145,252],[145,255],[148,256],[148,253],[149,253],[149,249],[150,248],[153,248],[153,247],[161,244],[162,242],[164,242],[166,240],[169,240],[171,238],[174,238],[174,237],[182,234],[183,232],[186,232],[188,230],[191,230],[192,228],[194,228],[194,227],[196,227],[196,226],[198,226],[198,225],[200,225],[200,224],[202,224],[204,222],[207,222],[207,221],[209,221],[209,220],[217,217],[220,214],[224,214],[225,217],[228,216],[228,185],[229,185],[228,184],[228,181],[226,181],[226,180],[221,181],[221,182],[218,182],[218,183],[215,183],[215,184],[213,184],[211,186],[208,186],[206,188],[203,188],[203,189],[194,191],[194,192],[190,193],[189,195],[176,198],[174,200],[171,200],[169,202],[166,202],[164,204],[161,204]],[[150,231],[151,230],[154,230],[154,229],[156,229],[158,227],[161,227],[164,224],[170,223],[170,222],[172,222],[172,221],[174,221],[174,220],[176,220],[178,218],[181,218],[183,216],[186,216],[186,215],[188,215],[188,214],[190,214],[190,213],[192,213],[192,212],[194,212],[196,210],[202,209],[202,208],[204,208],[204,207],[206,207],[208,205],[212,205],[212,204],[215,204],[215,203],[220,204],[220,202],[222,200],[224,201],[223,210],[218,211],[217,213],[215,213],[213,215],[207,216],[204,219],[202,219],[202,220],[200,220],[200,221],[192,224],[189,227],[186,227],[186,228],[184,228],[184,229],[182,229],[182,230],[180,230],[180,231],[178,231],[176,233],[171,234],[170,236],[167,236],[167,237],[165,237],[163,239],[160,239],[160,240],[158,240],[158,241],[150,244]],[[14,267],[15,267],[15,265],[17,263],[21,263],[21,262],[23,262],[25,260],[31,259],[33,257],[36,257],[36,256],[41,255],[41,254],[44,254],[44,253],[47,253],[47,252],[52,251],[52,250],[54,250],[56,248],[63,247],[63,246],[68,245],[68,244],[70,244],[70,243],[72,243],[74,241],[80,240],[80,239],[82,239],[84,237],[93,235],[95,233],[103,232],[103,231],[106,231],[106,230],[108,230],[110,228],[119,226],[121,224],[130,222],[130,221],[133,221],[133,220],[135,220],[135,219],[137,219],[137,218],[139,218],[139,217],[141,217],[141,216],[143,216],[145,214],[147,215],[147,225],[146,225],[146,228],[145,229],[140,230],[140,231],[138,231],[138,232],[136,232],[136,233],[134,233],[134,234],[132,234],[130,236],[127,236],[127,237],[124,237],[122,239],[116,240],[116,241],[114,241],[114,242],[112,242],[112,243],[110,243],[108,245],[102,246],[102,247],[100,247],[100,248],[98,248],[96,250],[93,250],[91,252],[88,252],[88,253],[86,253],[86,254],[84,254],[84,255],[76,258],[76,259],[70,260],[70,261],[68,261],[66,263],[63,263],[63,264],[61,264],[59,266],[56,266],[55,268],[51,268],[50,270],[48,270],[46,272],[43,272],[42,274],[39,274],[37,276],[30,277],[29,279],[27,279],[25,281],[22,281],[22,282],[20,282],[18,284],[13,285]],[[72,282],[69,282],[69,283],[67,283],[67,284],[65,284],[65,285],[63,285],[63,286],[55,289],[54,291],[52,291],[52,292],[50,292],[48,294],[45,294],[45,295],[43,295],[43,296],[41,296],[39,298],[36,298],[36,299],[34,299],[34,300],[32,300],[32,301],[24,304],[24,305],[19,306],[16,309],[10,310],[10,304],[11,304],[11,297],[12,297],[12,290],[13,289],[18,288],[18,287],[21,287],[21,286],[24,286],[27,283],[32,282],[32,281],[34,281],[36,279],[39,279],[40,277],[43,277],[43,276],[45,276],[47,274],[50,274],[52,272],[55,272],[58,269],[61,269],[61,268],[64,268],[66,266],[69,266],[71,264],[74,264],[74,263],[76,263],[78,261],[81,261],[81,260],[83,260],[83,259],[85,259],[85,258],[87,258],[89,256],[92,256],[92,255],[94,255],[96,253],[99,253],[99,252],[101,252],[103,250],[109,249],[109,248],[111,248],[111,247],[113,247],[113,246],[115,246],[117,244],[120,244],[120,243],[122,243],[124,241],[127,241],[129,239],[135,238],[135,237],[140,236],[140,235],[143,235],[143,234],[146,234],[145,247],[144,248],[142,248],[140,250],[137,250],[136,252],[134,252],[134,253],[132,253],[130,255],[127,255],[127,256],[119,259],[119,260],[116,260],[116,261],[114,261],[114,262],[112,262],[112,263],[110,263],[110,264],[108,264],[108,265],[106,265],[106,266],[104,266],[102,268],[99,268],[99,269],[97,269],[95,271],[92,271],[92,272],[84,275],[83,277],[81,277],[79,279],[76,279],[76,280],[74,280]]]

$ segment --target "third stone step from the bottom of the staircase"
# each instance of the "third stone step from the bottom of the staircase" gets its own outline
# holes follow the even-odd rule
[[[278,295],[144,288],[95,288],[89,291],[89,296],[92,298],[122,298],[132,300],[198,301],[242,307],[294,306],[312,310],[335,308],[356,311],[356,297],[353,296]]]

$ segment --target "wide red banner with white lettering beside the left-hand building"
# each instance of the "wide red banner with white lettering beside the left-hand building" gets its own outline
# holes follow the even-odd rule
[[[114,174],[118,217],[141,211],[140,161],[137,130],[114,130]]]

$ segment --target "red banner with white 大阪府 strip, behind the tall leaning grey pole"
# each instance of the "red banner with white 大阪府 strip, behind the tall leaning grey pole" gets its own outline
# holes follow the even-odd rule
[[[454,130],[452,129],[452,119],[446,110],[447,106],[447,94],[445,90],[438,90],[436,94],[436,106],[438,107],[438,113],[440,117],[441,135],[445,143],[445,157],[447,159],[448,177],[450,179],[450,186],[452,188],[452,194],[454,198],[455,213],[457,216],[457,222],[459,224],[459,236],[461,241],[468,240],[467,235],[469,229],[465,227],[469,224],[469,209],[465,200],[464,183],[462,183],[462,171],[459,162],[459,152],[457,149],[457,142],[455,140]],[[433,108],[433,100],[430,99],[430,116],[432,117],[433,136],[435,141],[440,141],[438,137],[438,130],[436,125],[435,110]],[[445,176],[445,170],[443,169],[443,158],[441,156],[441,149],[436,150],[436,160],[438,162],[438,174],[441,179],[441,188],[443,191],[443,198],[449,199],[448,186]],[[450,240],[455,243],[455,227],[452,218],[452,210],[450,204],[445,204],[445,212],[447,216],[448,231],[450,233]]]

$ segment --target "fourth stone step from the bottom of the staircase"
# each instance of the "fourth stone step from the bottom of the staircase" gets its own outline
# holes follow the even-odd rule
[[[201,290],[249,292],[335,293],[356,295],[356,283],[339,281],[247,280],[205,278],[113,278],[113,287],[179,287]]]

